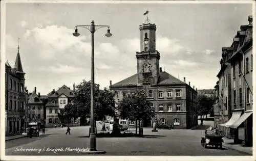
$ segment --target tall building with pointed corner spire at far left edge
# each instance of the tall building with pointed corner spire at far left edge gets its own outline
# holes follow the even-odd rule
[[[25,125],[25,72],[19,50],[14,68],[5,64],[6,136],[19,135]]]

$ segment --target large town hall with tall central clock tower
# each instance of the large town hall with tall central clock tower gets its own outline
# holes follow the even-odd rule
[[[152,126],[157,121],[174,128],[191,128],[198,124],[196,113],[197,91],[184,81],[162,71],[160,53],[156,50],[156,25],[140,25],[140,52],[136,52],[137,73],[113,84],[115,101],[127,94],[144,90],[147,99],[155,108],[155,118],[143,120],[143,126]]]

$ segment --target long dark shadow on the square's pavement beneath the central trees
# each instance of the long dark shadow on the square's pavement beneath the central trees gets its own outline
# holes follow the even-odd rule
[[[136,135],[135,133],[121,133],[120,135],[112,135],[110,134],[101,134],[101,133],[97,133],[96,138],[129,138],[129,137],[134,137],[134,138],[163,138],[166,136],[161,136],[161,135],[143,135],[143,136],[139,136]],[[78,138],[89,138],[89,136],[79,136]]]

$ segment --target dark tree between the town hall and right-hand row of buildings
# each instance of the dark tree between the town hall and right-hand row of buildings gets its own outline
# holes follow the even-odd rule
[[[214,105],[214,98],[207,97],[205,95],[199,95],[197,100],[197,112],[200,115],[201,125],[203,125],[202,115],[207,116],[207,114],[209,114],[209,112],[212,110],[212,106]]]

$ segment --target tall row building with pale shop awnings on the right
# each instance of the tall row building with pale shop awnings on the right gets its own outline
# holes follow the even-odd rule
[[[222,126],[230,127],[235,143],[252,145],[252,16],[233,38],[229,58],[232,117]]]

